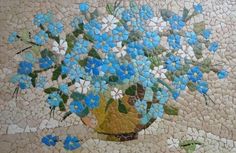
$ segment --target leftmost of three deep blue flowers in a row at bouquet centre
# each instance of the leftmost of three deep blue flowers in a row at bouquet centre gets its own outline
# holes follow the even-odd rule
[[[96,58],[89,58],[87,61],[87,65],[85,66],[85,71],[94,75],[99,75],[99,69],[101,65],[101,60]]]

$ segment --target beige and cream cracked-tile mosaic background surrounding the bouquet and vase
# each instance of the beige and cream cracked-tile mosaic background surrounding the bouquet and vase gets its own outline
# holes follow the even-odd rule
[[[236,1],[203,0],[204,18],[214,31],[213,39],[220,43],[215,59],[225,62],[229,77],[217,80],[209,74],[209,95],[215,104],[205,105],[198,93],[182,93],[176,105],[178,116],[165,115],[148,129],[139,133],[138,140],[130,142],[109,142],[98,139],[92,129],[85,127],[75,116],[61,122],[62,114],[49,117],[40,90],[32,89],[21,93],[18,100],[12,99],[14,87],[8,83],[9,76],[17,70],[16,52],[22,44],[7,45],[7,36],[12,31],[32,29],[32,16],[38,11],[52,10],[59,20],[68,24],[78,14],[79,0],[0,0],[0,152],[65,152],[62,146],[47,148],[41,144],[41,137],[48,133],[60,136],[78,135],[82,147],[75,152],[184,152],[178,142],[195,139],[204,143],[197,153],[236,152]],[[108,0],[90,0],[93,7],[105,11]],[[193,0],[139,0],[148,3],[157,12],[169,8],[180,12],[183,6],[191,7]],[[196,1],[195,1],[196,2]],[[124,3],[126,3],[124,1]],[[68,27],[69,28],[69,27]],[[35,30],[35,29],[32,29]],[[65,31],[67,31],[65,27]],[[57,112],[56,112],[57,113]],[[177,145],[176,145],[177,144]]]

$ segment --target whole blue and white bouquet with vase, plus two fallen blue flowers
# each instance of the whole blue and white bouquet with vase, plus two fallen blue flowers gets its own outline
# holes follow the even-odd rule
[[[184,8],[182,15],[167,9],[155,15],[149,5],[138,6],[133,0],[128,8],[117,1],[107,4],[106,10],[101,15],[80,3],[81,15],[74,17],[72,32],[65,37],[64,25],[51,12],[34,16],[39,30],[33,37],[13,32],[10,44],[21,40],[29,45],[17,53],[23,60],[11,78],[17,85],[14,96],[20,89],[42,88],[51,112],[65,112],[63,120],[74,114],[98,133],[122,141],[164,113],[173,114],[166,103],[177,100],[183,90],[197,91],[207,102],[204,73],[213,71],[219,79],[228,75],[204,55],[218,49],[218,43],[210,40],[211,30],[203,21],[187,26],[202,13],[201,4]],[[51,80],[41,75],[50,70]],[[55,80],[62,83],[46,87]],[[53,135],[42,138],[48,146],[58,141]],[[64,147],[80,147],[78,138],[68,136]]]

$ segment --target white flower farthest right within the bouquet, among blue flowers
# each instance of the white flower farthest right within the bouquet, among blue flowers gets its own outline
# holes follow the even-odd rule
[[[193,48],[191,46],[183,45],[182,49],[179,49],[176,55],[181,56],[186,59],[195,59],[195,54],[193,52]]]

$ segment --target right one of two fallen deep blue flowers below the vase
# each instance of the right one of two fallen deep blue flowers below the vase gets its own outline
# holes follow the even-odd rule
[[[68,135],[64,141],[64,148],[66,150],[75,150],[80,147],[79,139],[77,137],[72,137]]]

